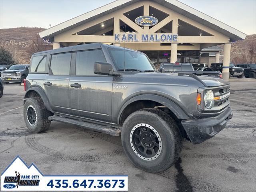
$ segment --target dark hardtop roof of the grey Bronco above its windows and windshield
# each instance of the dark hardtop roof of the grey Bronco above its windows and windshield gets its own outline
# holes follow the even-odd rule
[[[114,46],[114,45],[108,45],[108,44],[103,44],[103,43],[90,43],[90,44],[83,44],[83,45],[75,45],[75,46],[70,46],[70,47],[63,47],[63,48],[58,48],[58,49],[53,49],[53,50],[47,50],[47,51],[41,51],[34,53],[33,55],[36,54],[57,54],[57,53],[64,53],[64,52],[71,52],[71,51],[82,51],[82,50],[90,50],[90,49],[100,49],[102,46],[109,47],[109,48],[115,48],[115,49],[122,49],[122,50],[131,50],[135,52],[139,52],[136,50],[120,47],[120,46]]]

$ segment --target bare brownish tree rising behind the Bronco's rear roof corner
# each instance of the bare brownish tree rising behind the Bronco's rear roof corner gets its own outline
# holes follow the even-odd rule
[[[32,55],[36,52],[46,51],[52,49],[52,44],[44,42],[38,34],[32,39],[32,43],[26,48],[28,55]]]

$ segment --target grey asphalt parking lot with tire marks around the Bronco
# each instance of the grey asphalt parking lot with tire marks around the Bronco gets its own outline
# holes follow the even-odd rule
[[[132,192],[255,192],[256,80],[231,78],[228,126],[198,145],[183,142],[180,159],[159,174],[139,170],[129,161],[120,137],[52,122],[42,134],[28,132],[23,120],[24,89],[4,85],[0,99],[0,169],[17,156],[44,174],[127,174]]]

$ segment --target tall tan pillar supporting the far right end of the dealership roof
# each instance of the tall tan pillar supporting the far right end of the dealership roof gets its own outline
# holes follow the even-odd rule
[[[229,79],[230,51],[231,51],[231,44],[225,43],[224,44],[223,68],[222,68],[222,78],[224,80]]]

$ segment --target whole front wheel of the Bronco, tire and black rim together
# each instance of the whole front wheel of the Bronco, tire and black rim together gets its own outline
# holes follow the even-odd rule
[[[124,121],[121,138],[130,161],[152,173],[172,166],[182,148],[176,122],[165,112],[152,108],[130,114]]]

